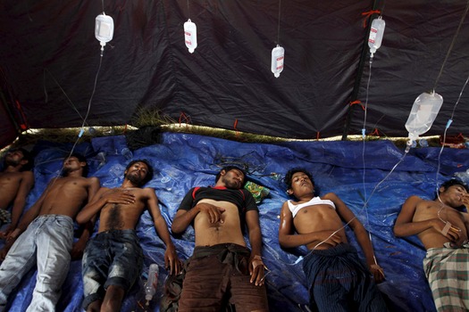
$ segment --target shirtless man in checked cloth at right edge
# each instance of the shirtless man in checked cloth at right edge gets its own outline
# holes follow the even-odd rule
[[[440,186],[433,201],[410,196],[394,226],[396,236],[417,234],[427,250],[423,268],[439,311],[469,310],[469,194],[463,182]]]

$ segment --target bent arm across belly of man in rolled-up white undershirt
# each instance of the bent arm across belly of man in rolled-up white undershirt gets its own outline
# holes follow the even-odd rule
[[[307,234],[295,234],[293,215],[289,210],[287,201],[281,207],[281,223],[279,226],[279,242],[283,248],[294,248],[310,242],[328,242],[335,246],[341,242],[339,234],[334,231],[316,231]],[[331,237],[330,237],[331,236]]]

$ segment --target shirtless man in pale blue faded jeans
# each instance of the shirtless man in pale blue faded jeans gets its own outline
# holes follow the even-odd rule
[[[70,266],[73,218],[99,188],[96,177],[82,177],[86,167],[86,159],[78,154],[64,160],[64,177],[52,179],[10,234],[15,242],[0,267],[0,310],[36,262],[38,277],[27,311],[55,310]],[[83,231],[73,248],[83,248],[88,236],[89,232]]]

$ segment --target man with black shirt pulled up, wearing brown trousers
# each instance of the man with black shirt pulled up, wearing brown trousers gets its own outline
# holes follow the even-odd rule
[[[182,200],[172,232],[183,233],[192,224],[196,248],[188,261],[180,312],[222,311],[228,304],[237,311],[268,311],[259,212],[244,184],[241,169],[225,167],[214,187],[192,188]]]

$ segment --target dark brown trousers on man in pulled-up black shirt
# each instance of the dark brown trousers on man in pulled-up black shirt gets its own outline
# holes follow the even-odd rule
[[[179,312],[218,312],[229,304],[237,312],[268,311],[265,286],[249,281],[249,255],[246,247],[235,244],[196,247],[188,261]]]

